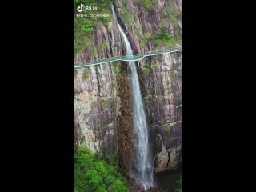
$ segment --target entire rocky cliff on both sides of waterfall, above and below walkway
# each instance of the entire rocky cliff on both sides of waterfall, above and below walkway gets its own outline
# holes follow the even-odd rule
[[[181,45],[181,1],[119,0],[114,6],[134,54]],[[158,38],[163,27],[173,37],[168,42]],[[74,62],[126,54],[114,19],[94,29]],[[182,160],[182,54],[149,57],[137,64],[155,171],[174,169]],[[126,168],[133,161],[129,74],[126,62],[74,70],[74,146],[114,154]]]

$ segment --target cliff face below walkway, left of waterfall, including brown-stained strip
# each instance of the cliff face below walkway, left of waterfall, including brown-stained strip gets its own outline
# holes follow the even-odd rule
[[[132,109],[126,63],[74,70],[74,146],[130,166]]]

